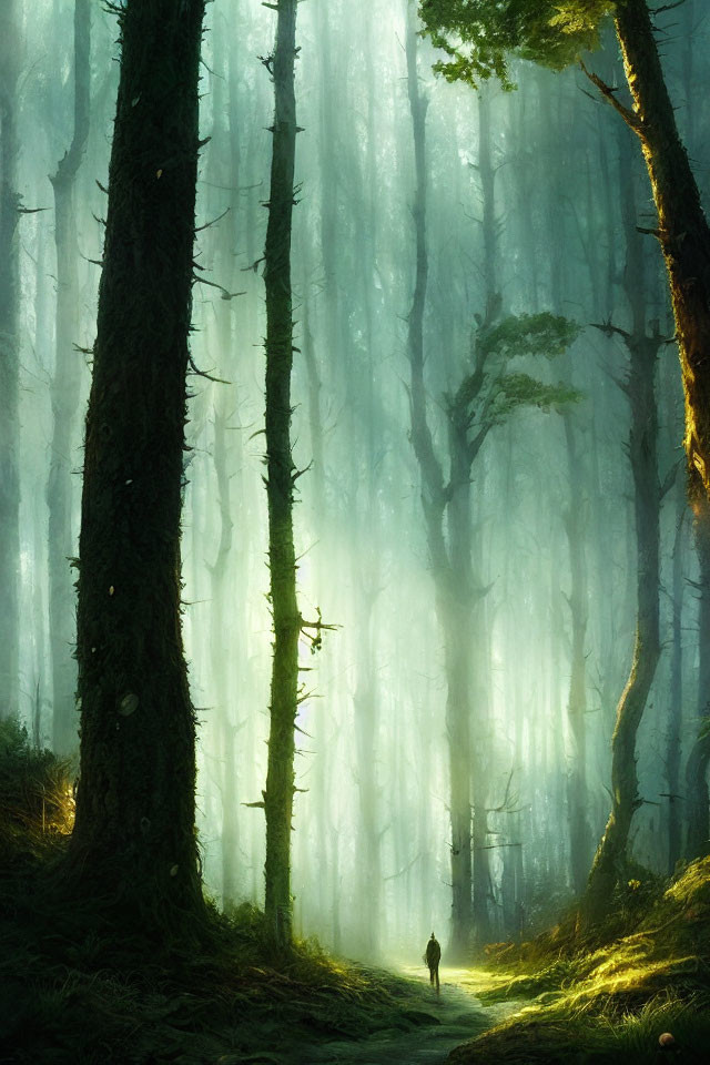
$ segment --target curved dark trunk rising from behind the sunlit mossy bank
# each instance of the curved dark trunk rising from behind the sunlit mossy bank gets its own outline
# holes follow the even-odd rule
[[[637,617],[633,659],[626,687],[617,707],[611,738],[611,812],[597,848],[585,907],[591,921],[608,912],[613,888],[623,875],[631,820],[641,805],[636,769],[636,737],[660,657],[659,635],[659,524],[660,485],[658,479],[656,364],[665,338],[658,322],[646,322],[645,253],[636,227],[632,184],[632,158],[628,135],[621,130],[620,174],[621,212],[627,261],[623,287],[631,307],[631,332],[606,326],[622,336],[629,354],[629,376],[625,384],[630,408],[629,457],[633,479],[633,509],[637,546]]]

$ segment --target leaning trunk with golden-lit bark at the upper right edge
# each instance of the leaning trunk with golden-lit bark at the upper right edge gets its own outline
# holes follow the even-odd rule
[[[663,251],[686,393],[686,450],[710,495],[710,227],[680,139],[647,0],[617,3],[615,24],[633,110],[607,99],[641,141]]]

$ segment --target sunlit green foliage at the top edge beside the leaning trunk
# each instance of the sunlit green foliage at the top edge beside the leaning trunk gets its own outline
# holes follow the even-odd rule
[[[496,77],[514,88],[511,53],[561,70],[598,44],[610,0],[422,0],[425,32],[448,59],[435,69],[448,81],[477,85]]]

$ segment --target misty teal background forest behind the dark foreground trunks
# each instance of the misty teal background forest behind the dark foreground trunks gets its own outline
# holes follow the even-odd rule
[[[295,539],[302,612],[315,619],[320,608],[323,620],[339,628],[317,653],[310,653],[310,640],[300,648],[302,665],[313,667],[302,674],[313,696],[296,722],[296,787],[303,790],[294,798],[292,891],[296,933],[349,953],[418,957],[432,929],[447,935],[454,841],[444,645],[409,440],[416,172],[407,7],[404,0],[314,0],[298,9],[304,132],[295,178],[292,426],[296,467],[313,466],[298,480]],[[665,70],[707,202],[708,119],[692,106],[694,88],[709,73],[708,23],[699,8],[687,3],[674,12]],[[63,458],[74,532],[106,210],[100,186],[108,180],[118,73],[110,62],[115,19],[95,6],[92,14],[91,122],[74,183],[78,295],[71,325],[62,326],[81,371],[80,409]],[[7,215],[12,237],[2,230],[2,270],[16,262],[19,282],[14,288],[0,282],[2,306],[17,294],[17,326],[2,326],[2,373],[12,371],[4,359],[13,337],[19,367],[18,416],[2,468],[14,449],[20,530],[13,547],[10,526],[7,537],[0,527],[2,565],[18,575],[18,606],[7,600],[3,622],[13,609],[19,616],[19,672],[7,673],[2,709],[12,707],[17,676],[20,712],[43,743],[53,737],[45,485],[61,339],[48,175],[75,131],[73,17],[73,0],[31,8],[14,0],[2,11],[18,41],[16,73],[12,64],[2,68],[2,202],[14,212],[44,209]],[[258,57],[271,52],[275,13],[256,0],[219,0],[207,19],[201,134],[211,140],[197,175],[197,225],[206,227],[197,234],[202,281],[193,291],[182,602],[199,708],[204,874],[221,902],[262,903],[264,824],[246,804],[262,798],[268,732],[261,256],[273,98]],[[0,34],[3,44],[10,39]],[[608,69],[610,81],[618,64],[613,40],[605,38],[605,48],[596,69]],[[436,54],[428,42],[419,41],[418,50],[419,92],[429,101],[422,335],[437,453],[448,447],[444,397],[460,385],[476,315],[485,315],[491,294],[500,295],[505,315],[551,312],[582,329],[565,368],[560,361],[542,366],[547,386],[561,382],[580,400],[564,418],[536,407],[517,410],[488,435],[470,485],[476,507],[468,550],[487,590],[468,660],[477,708],[468,781],[479,811],[473,862],[475,869],[478,855],[485,871],[474,899],[489,934],[501,939],[526,932],[546,906],[579,889],[579,870],[590,862],[609,812],[610,739],[633,649],[637,538],[626,453],[630,409],[618,387],[628,352],[621,335],[589,325],[635,328],[625,290],[626,150],[618,116],[590,98],[579,71],[554,74],[516,60],[518,90],[490,83],[478,98],[432,74]],[[14,119],[6,118],[10,104]],[[635,172],[632,181],[638,222],[652,227],[647,179]],[[6,200],[7,190],[16,199]],[[649,335],[658,322],[659,335],[669,336],[663,264],[653,239],[639,240]],[[67,351],[67,341],[60,346]],[[534,373],[537,365],[521,369]],[[3,389],[3,403],[9,398]],[[670,344],[658,352],[657,402],[662,480],[681,457],[683,436]],[[3,417],[3,433],[10,424]],[[11,486],[3,473],[3,490]],[[696,549],[703,550],[702,520],[700,509],[687,513],[680,474],[660,510],[661,652],[637,738],[643,804],[630,831],[633,859],[659,873],[678,854],[708,845],[707,832],[692,842],[687,830],[690,799],[702,792],[708,764],[707,737],[698,739],[708,706],[699,640],[708,620],[708,565],[698,562]],[[63,550],[64,559],[73,554]],[[65,560],[63,580],[72,579]],[[11,581],[3,581],[3,596],[8,590]],[[16,653],[6,641],[2,650]]]

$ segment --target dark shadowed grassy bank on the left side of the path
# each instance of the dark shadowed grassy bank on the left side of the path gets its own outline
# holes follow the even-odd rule
[[[302,1062],[304,1045],[436,1023],[413,982],[296,943],[278,958],[263,914],[207,907],[202,935],[156,941],[91,903],[58,905],[72,821],[69,767],[0,722],[0,1062]]]

